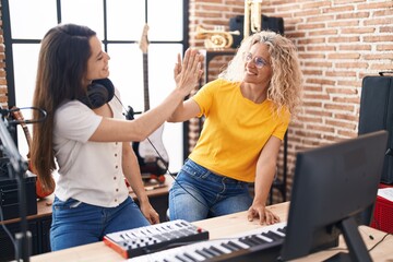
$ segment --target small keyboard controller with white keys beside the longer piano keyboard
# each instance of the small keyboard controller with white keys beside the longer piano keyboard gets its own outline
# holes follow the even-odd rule
[[[103,240],[128,259],[168,249],[176,245],[193,243],[206,239],[209,239],[209,231],[189,222],[177,219],[107,234]]]

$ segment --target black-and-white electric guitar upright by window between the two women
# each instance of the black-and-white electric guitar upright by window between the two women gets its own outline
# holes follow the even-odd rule
[[[144,91],[144,111],[150,109],[148,97],[148,66],[147,66],[147,31],[148,25],[145,24],[140,41],[140,49],[143,52],[143,91]],[[134,112],[131,107],[127,112],[126,118],[131,120],[134,118]],[[150,178],[158,176],[158,181],[164,182],[164,175],[168,168],[169,158],[163,143],[164,124],[153,132],[148,139],[142,142],[133,142],[132,148],[134,150],[139,165],[141,167],[142,177],[147,175]],[[158,154],[157,154],[157,152]],[[154,178],[154,177],[153,177]]]

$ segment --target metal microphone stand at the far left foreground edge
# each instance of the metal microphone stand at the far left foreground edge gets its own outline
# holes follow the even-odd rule
[[[29,254],[32,250],[32,234],[27,230],[27,218],[26,218],[26,189],[24,182],[24,175],[27,170],[27,163],[24,160],[19,153],[14,141],[9,133],[5,120],[3,118],[3,112],[0,112],[0,141],[1,141],[1,151],[9,157],[11,164],[11,172],[9,174],[10,178],[16,178],[19,184],[19,201],[20,201],[20,216],[21,216],[21,233],[15,235],[16,238],[16,249],[15,257],[16,261],[28,262]],[[14,176],[13,176],[14,175]]]

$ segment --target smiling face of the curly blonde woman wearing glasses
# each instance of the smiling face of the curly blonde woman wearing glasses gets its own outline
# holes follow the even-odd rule
[[[257,43],[245,53],[245,82],[253,84],[265,84],[272,79],[273,70],[269,46]]]

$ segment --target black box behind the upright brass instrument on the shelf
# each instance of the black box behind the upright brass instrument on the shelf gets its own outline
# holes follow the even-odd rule
[[[238,48],[243,38],[243,26],[245,26],[245,15],[237,15],[229,19],[229,31],[239,31],[240,35],[234,35],[233,48]],[[284,19],[283,17],[273,17],[261,15],[261,28],[270,29],[277,34],[284,35]]]

